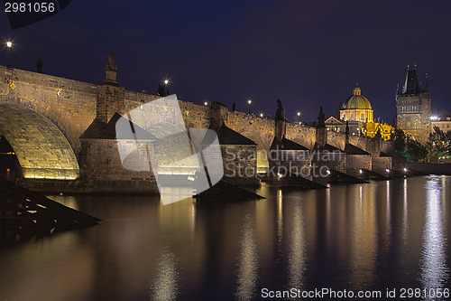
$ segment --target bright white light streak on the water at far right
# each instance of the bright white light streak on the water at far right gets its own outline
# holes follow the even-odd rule
[[[421,282],[425,288],[437,289],[445,287],[448,269],[446,268],[446,238],[443,232],[441,202],[443,187],[433,180],[429,180],[426,184],[428,196],[421,257]]]

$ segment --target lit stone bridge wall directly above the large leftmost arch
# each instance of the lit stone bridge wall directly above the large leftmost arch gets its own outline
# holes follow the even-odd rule
[[[11,72],[3,66],[0,66],[0,77],[0,101],[32,108],[49,118],[66,136],[75,154],[79,154],[78,137],[96,117],[97,85],[31,71]],[[15,89],[5,80],[14,80]]]

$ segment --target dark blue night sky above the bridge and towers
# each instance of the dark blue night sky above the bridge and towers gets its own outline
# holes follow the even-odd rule
[[[114,52],[125,89],[216,100],[272,117],[327,116],[359,82],[374,117],[391,123],[396,85],[407,64],[429,74],[432,112],[451,111],[451,1],[112,1],[72,0],[37,24],[11,30],[0,12],[0,36],[14,42],[15,68],[101,83]],[[7,52],[0,48],[0,64]]]

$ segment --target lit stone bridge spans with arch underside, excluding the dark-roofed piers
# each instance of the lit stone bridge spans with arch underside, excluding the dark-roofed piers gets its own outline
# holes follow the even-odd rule
[[[111,70],[106,70],[103,84],[3,66],[0,76],[0,134],[13,147],[25,178],[78,179],[80,136],[93,120],[107,122],[115,112],[124,115],[159,98],[120,87],[115,81],[115,71]],[[210,126],[210,106],[179,100],[179,107],[187,128]],[[274,101],[274,112],[275,108]],[[227,127],[253,140],[258,149],[269,151],[274,119],[227,108],[221,114]],[[312,149],[315,128],[287,123],[286,137]],[[328,133],[328,143],[344,149],[345,136]],[[351,143],[369,153],[377,152],[368,138],[351,136]],[[265,157],[259,157],[258,161],[257,165],[268,165]]]

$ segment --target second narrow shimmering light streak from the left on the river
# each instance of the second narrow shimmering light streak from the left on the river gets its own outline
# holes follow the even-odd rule
[[[255,294],[257,283],[257,246],[254,222],[250,214],[244,217],[240,257],[238,259],[236,296],[240,300],[250,300]]]

